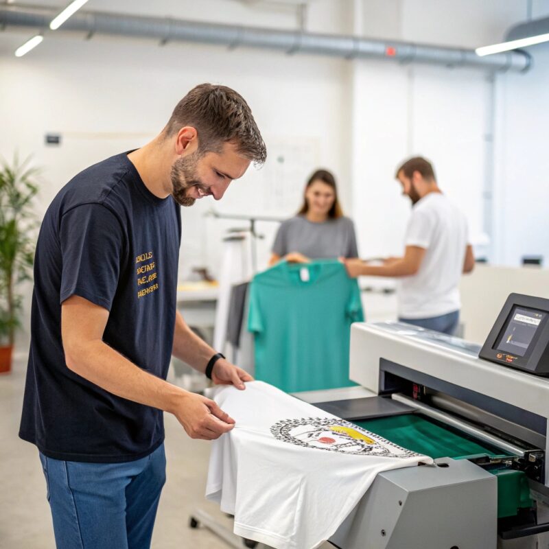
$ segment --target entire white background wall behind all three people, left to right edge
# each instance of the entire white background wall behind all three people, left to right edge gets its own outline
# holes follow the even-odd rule
[[[534,0],[533,8],[534,16],[545,15],[549,1]],[[128,3],[90,0],[89,9],[124,11]],[[297,25],[294,8],[229,0],[139,0],[132,2],[132,13]],[[306,28],[475,47],[500,40],[525,18],[526,2],[519,0],[312,0]],[[466,211],[471,235],[482,236],[489,107],[482,71],[51,33],[30,54],[14,58],[28,36],[12,29],[0,33],[0,154],[10,159],[14,150],[32,153],[43,166],[41,211],[78,170],[154,136],[194,84],[228,84],[250,103],[268,162],[259,172],[250,168],[222,202],[202,201],[185,210],[181,277],[198,265],[217,274],[224,229],[244,225],[205,218],[211,206],[222,213],[291,215],[305,178],[319,165],[338,177],[364,256],[401,251],[410,205],[393,176],[397,163],[411,154],[432,159],[441,186]],[[532,51],[533,71],[500,75],[496,82],[495,257],[508,264],[526,253],[549,257],[549,54],[544,47]],[[46,132],[60,132],[62,145],[44,145]],[[258,229],[266,235],[259,242],[261,264],[276,225]]]

